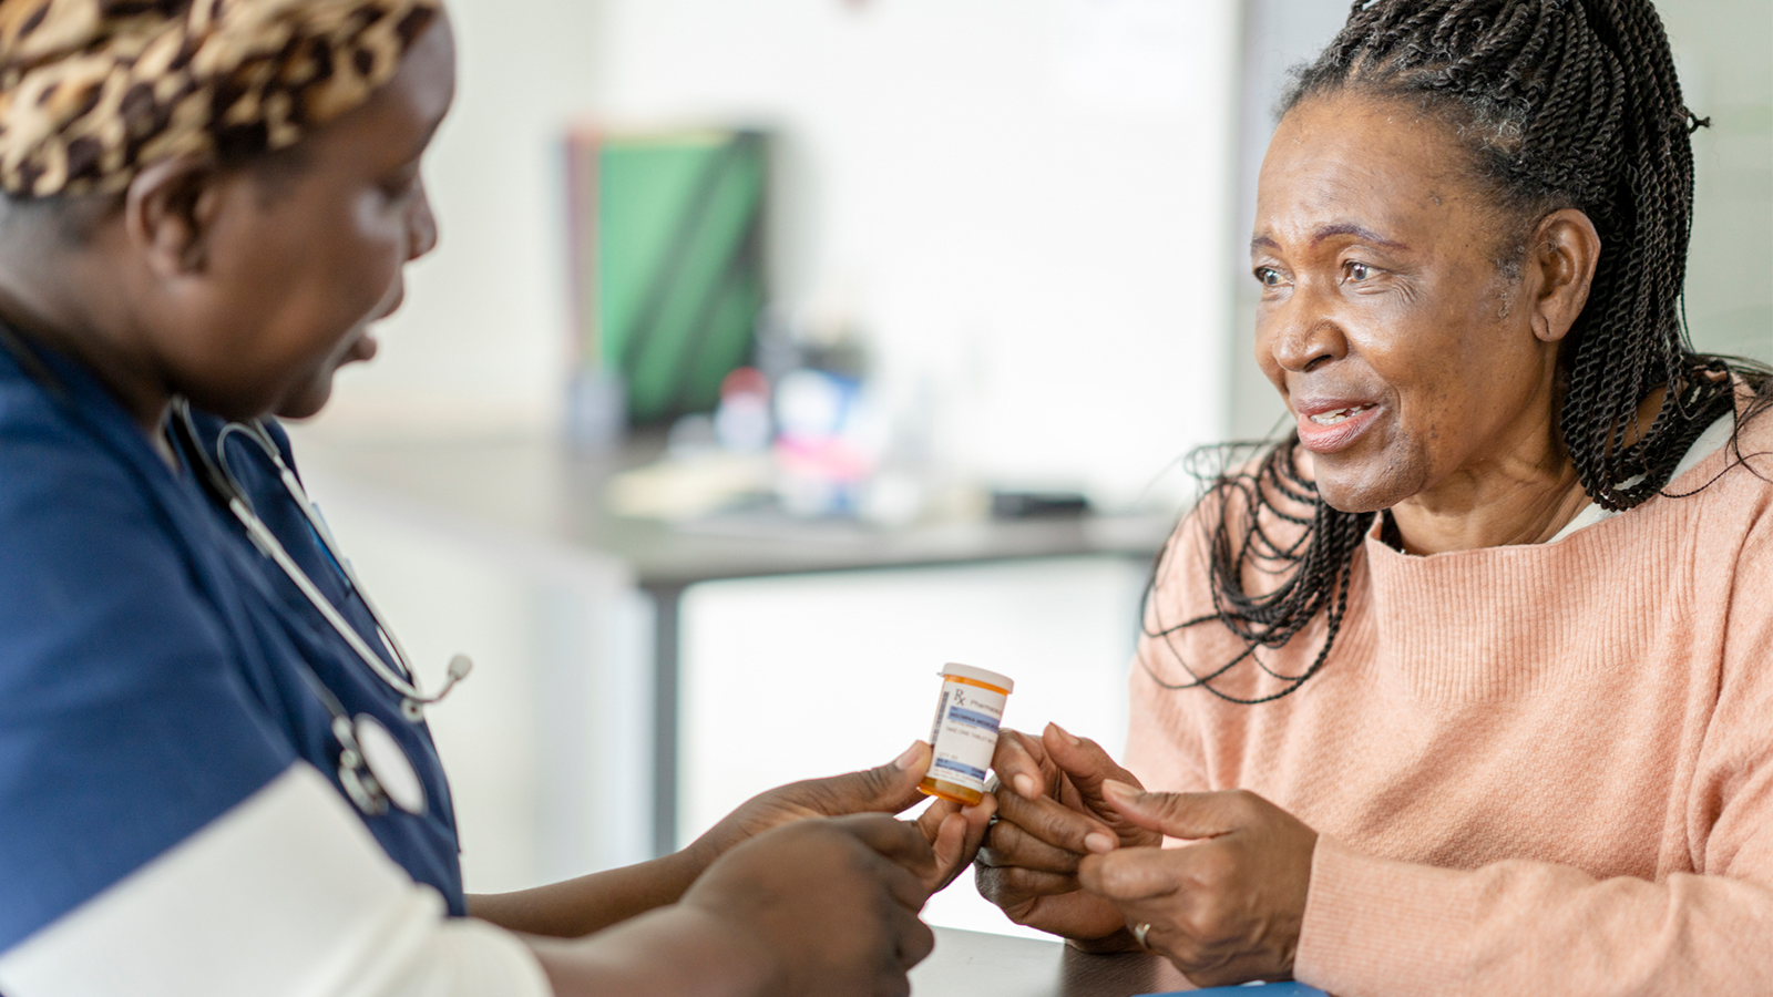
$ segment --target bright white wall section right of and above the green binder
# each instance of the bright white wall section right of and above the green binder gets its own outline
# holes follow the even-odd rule
[[[777,130],[780,302],[952,461],[1113,500],[1222,435],[1232,0],[603,4],[603,117]]]

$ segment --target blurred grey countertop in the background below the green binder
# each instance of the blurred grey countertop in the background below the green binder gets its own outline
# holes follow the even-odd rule
[[[652,459],[656,445],[576,454],[544,438],[340,442],[300,429],[294,436],[305,467],[445,516],[613,555],[649,589],[860,568],[1149,557],[1172,525],[1163,516],[1083,516],[901,530],[785,520],[676,529],[605,511],[610,477]]]

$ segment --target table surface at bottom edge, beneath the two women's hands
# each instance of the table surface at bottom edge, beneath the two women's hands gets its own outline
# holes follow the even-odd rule
[[[936,951],[911,970],[911,997],[1131,997],[1191,990],[1158,956],[1090,956],[1035,942],[936,928]]]

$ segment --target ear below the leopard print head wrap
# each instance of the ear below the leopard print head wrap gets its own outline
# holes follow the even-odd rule
[[[223,197],[213,156],[186,154],[137,174],[124,192],[124,232],[149,270],[165,280],[209,268],[216,215]]]

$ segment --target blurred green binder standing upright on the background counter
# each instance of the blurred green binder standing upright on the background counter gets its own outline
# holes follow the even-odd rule
[[[764,135],[580,133],[567,169],[582,364],[635,424],[713,410],[764,307]]]

